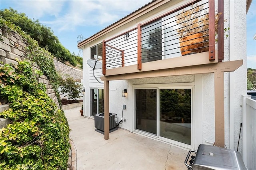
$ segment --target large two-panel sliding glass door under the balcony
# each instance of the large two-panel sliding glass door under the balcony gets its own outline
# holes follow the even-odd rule
[[[134,91],[136,130],[154,134],[166,141],[192,144],[192,88]]]

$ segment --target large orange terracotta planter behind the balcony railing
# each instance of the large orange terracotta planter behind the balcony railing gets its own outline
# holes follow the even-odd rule
[[[205,48],[202,47],[204,47],[205,43],[203,43],[204,38],[202,36],[202,33],[196,33],[180,38],[181,55],[203,52]]]

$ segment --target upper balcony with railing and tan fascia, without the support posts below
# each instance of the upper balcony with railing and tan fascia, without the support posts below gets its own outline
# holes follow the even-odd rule
[[[223,21],[223,2],[218,2],[216,14],[214,0],[209,0],[184,4],[138,24],[136,28],[103,41],[103,75],[221,62]],[[215,36],[217,32],[218,37]],[[217,46],[218,51],[215,50]]]

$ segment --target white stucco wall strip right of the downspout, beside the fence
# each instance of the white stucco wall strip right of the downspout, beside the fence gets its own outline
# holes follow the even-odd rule
[[[237,148],[240,123],[242,123],[242,95],[247,94],[247,72],[246,72],[246,1],[237,0],[234,5],[234,55],[230,55],[230,60],[243,59],[244,64],[238,68],[234,74],[234,149]],[[230,46],[230,48],[232,48]],[[240,139],[240,141],[242,141]],[[240,142],[238,151],[242,150]]]

